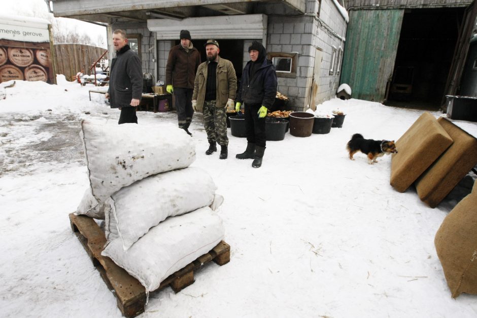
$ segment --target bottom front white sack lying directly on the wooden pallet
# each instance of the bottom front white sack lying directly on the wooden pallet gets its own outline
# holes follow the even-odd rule
[[[208,253],[223,237],[221,218],[204,207],[167,218],[127,251],[123,250],[121,240],[112,241],[101,255],[124,268],[149,292],[172,273]]]

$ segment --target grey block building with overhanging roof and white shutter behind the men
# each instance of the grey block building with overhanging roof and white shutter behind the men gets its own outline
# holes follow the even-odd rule
[[[141,56],[143,72],[165,80],[171,47],[180,30],[188,29],[205,60],[203,44],[220,44],[220,55],[232,61],[237,76],[249,61],[248,47],[262,42],[274,61],[278,90],[288,96],[287,107],[304,110],[336,94],[346,42],[348,13],[343,0],[170,1],[55,0],[56,17],[106,25],[109,58],[112,32],[123,29]]]

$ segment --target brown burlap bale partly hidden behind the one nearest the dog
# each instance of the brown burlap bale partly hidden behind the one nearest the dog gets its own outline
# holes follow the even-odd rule
[[[416,181],[419,198],[435,208],[477,164],[477,139],[439,117],[437,122],[454,143]]]

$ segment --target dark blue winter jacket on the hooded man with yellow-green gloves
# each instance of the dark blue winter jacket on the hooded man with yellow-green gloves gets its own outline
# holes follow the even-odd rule
[[[252,61],[245,65],[240,90],[235,101],[270,108],[277,96],[277,73],[270,60],[263,59],[260,68],[250,77]]]

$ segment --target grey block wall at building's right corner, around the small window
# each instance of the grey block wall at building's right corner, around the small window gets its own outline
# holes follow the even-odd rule
[[[289,97],[288,106],[294,110],[305,110],[311,100],[316,49],[323,51],[317,100],[333,98],[339,84],[339,73],[330,75],[329,69],[333,48],[336,56],[344,48],[347,24],[332,0],[319,5],[317,0],[307,0],[305,15],[268,17],[267,52],[298,53],[296,78],[278,77],[278,90]]]

